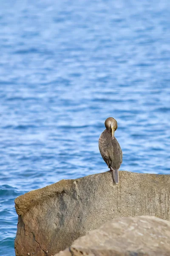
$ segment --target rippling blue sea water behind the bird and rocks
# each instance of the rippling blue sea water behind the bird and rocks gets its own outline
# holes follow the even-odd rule
[[[0,3],[0,255],[14,256],[14,199],[108,171],[170,174],[170,1]]]

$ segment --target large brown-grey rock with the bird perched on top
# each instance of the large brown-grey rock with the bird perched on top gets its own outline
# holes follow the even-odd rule
[[[19,196],[16,255],[54,255],[113,218],[154,215],[170,220],[170,175],[120,171],[119,176],[118,185],[111,172],[104,172]]]

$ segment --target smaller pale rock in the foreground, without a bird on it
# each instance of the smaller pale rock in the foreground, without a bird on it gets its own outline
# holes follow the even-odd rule
[[[170,256],[170,222],[150,216],[114,219],[54,256],[83,255]]]

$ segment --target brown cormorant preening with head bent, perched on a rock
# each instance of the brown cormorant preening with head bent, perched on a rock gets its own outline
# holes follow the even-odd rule
[[[122,149],[114,136],[114,132],[117,130],[116,119],[108,117],[105,120],[105,127],[106,129],[99,137],[99,151],[108,168],[113,172],[114,182],[118,184],[118,170],[122,163]]]

